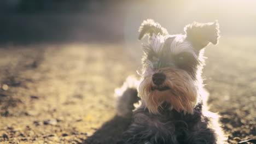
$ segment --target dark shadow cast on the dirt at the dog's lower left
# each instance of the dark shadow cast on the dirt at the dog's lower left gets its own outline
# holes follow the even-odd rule
[[[123,131],[125,131],[131,124],[130,118],[123,118],[115,116],[110,121],[104,123],[100,129],[88,137],[83,143],[84,144],[106,144],[106,143],[117,143],[121,139]]]

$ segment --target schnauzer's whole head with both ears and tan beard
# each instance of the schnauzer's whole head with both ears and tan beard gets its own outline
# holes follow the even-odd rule
[[[143,80],[139,95],[152,113],[165,109],[193,113],[202,87],[201,69],[203,48],[217,44],[218,22],[191,23],[184,27],[185,34],[169,35],[153,20],[143,21],[139,40],[149,35],[143,44]]]

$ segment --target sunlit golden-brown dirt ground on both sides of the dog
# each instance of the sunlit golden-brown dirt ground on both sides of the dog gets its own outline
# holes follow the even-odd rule
[[[208,102],[228,143],[256,138],[255,46],[255,37],[223,36],[206,50]],[[114,88],[136,75],[140,53],[133,44],[2,45],[0,143],[114,141],[129,124],[115,116]]]

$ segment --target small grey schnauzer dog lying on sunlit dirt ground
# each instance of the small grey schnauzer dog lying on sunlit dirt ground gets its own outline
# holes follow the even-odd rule
[[[116,89],[118,115],[132,119],[118,143],[225,143],[218,115],[208,111],[201,78],[204,47],[218,43],[218,22],[193,22],[184,31],[170,35],[153,20],[139,27],[139,40],[148,35],[141,80],[129,77]]]

